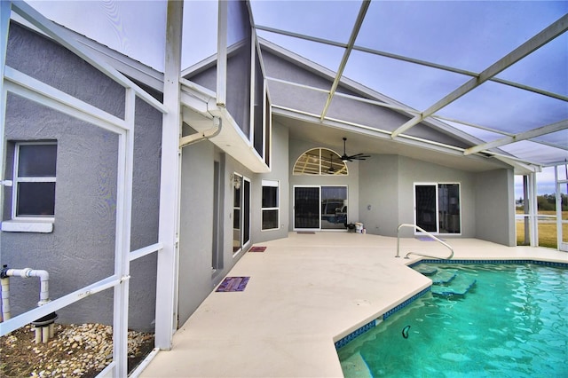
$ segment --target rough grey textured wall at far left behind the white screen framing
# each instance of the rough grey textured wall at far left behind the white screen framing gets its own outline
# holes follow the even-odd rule
[[[71,52],[41,35],[11,25],[6,64],[117,116],[124,89]],[[157,241],[161,122],[159,112],[137,100],[131,249]],[[118,137],[30,100],[9,95],[5,177],[12,177],[17,141],[56,140],[55,223],[51,233],[2,232],[2,264],[50,272],[50,296],[58,298],[114,272]],[[12,193],[4,192],[3,220]],[[131,266],[129,327],[153,327],[155,256]],[[35,279],[11,280],[12,316],[38,301]],[[112,324],[113,293],[106,290],[58,311],[63,323]]]

